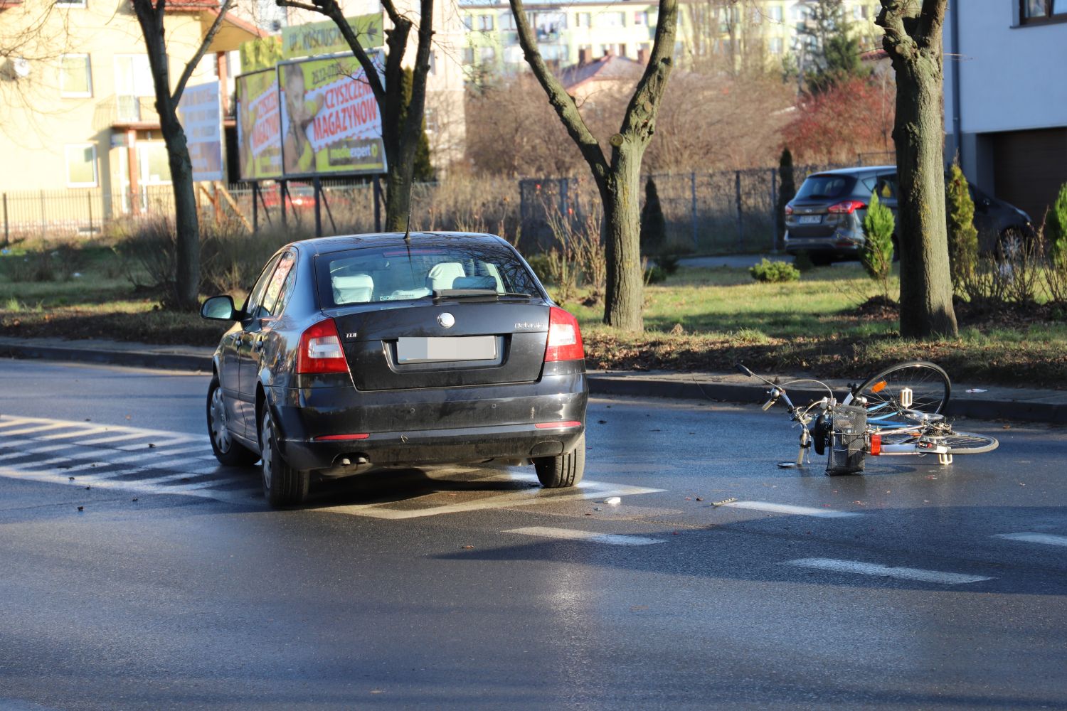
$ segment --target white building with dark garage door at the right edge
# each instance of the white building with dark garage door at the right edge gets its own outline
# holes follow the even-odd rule
[[[1067,182],[1067,4],[953,3],[944,48],[945,158],[1040,223]]]

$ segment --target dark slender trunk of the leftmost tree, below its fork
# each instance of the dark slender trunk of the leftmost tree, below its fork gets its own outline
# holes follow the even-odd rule
[[[191,310],[197,307],[200,295],[200,216],[196,214],[193,166],[186,132],[175,112],[160,112],[159,124],[166,144],[174,191],[174,306]]]

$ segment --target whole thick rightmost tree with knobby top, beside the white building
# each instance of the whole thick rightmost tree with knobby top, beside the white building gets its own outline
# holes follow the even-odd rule
[[[901,335],[956,335],[944,217],[941,27],[949,0],[881,0],[877,23],[896,71]]]

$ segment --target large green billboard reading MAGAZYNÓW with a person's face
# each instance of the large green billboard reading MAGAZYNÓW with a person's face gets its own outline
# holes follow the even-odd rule
[[[382,78],[381,52],[371,58]],[[378,101],[354,56],[290,62],[277,71],[286,177],[385,172]]]

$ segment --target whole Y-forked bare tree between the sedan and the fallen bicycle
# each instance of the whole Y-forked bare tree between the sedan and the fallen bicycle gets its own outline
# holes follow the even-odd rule
[[[655,43],[644,72],[637,82],[619,131],[611,134],[608,161],[601,144],[578,112],[574,98],[552,74],[537,48],[522,0],[510,0],[519,30],[519,44],[548,102],[567,128],[571,140],[592,171],[604,207],[603,235],[607,251],[607,290],[604,323],[624,330],[643,328],[641,300],[643,278],[640,256],[641,158],[655,132],[667,79],[673,66],[678,0],[659,0]]]

